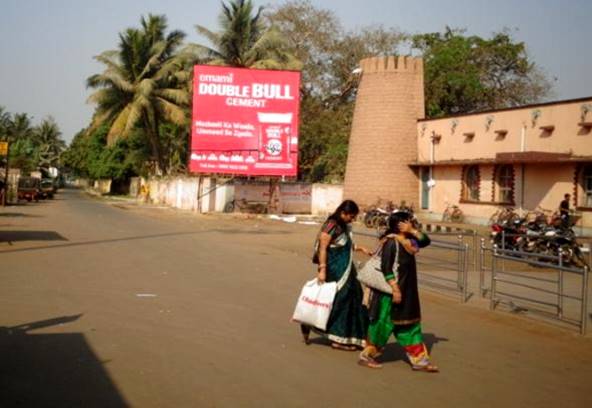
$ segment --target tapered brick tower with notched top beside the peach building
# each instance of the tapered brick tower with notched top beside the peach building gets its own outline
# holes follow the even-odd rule
[[[419,204],[417,119],[424,117],[423,60],[360,61],[362,78],[345,171],[344,198],[362,207],[378,199]]]

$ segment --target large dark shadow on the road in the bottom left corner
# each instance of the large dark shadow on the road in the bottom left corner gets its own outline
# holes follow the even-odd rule
[[[28,333],[80,316],[0,327],[0,406],[129,406],[82,333]]]

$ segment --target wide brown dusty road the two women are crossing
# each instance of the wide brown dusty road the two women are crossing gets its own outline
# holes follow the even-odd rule
[[[74,190],[0,209],[0,406],[592,406],[590,336],[427,291],[440,374],[304,345],[317,228]]]

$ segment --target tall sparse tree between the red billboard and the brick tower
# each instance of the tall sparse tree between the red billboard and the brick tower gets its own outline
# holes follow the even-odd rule
[[[395,29],[345,31],[332,11],[310,1],[288,1],[266,16],[303,64],[299,177],[340,182],[345,174],[349,134],[361,59],[393,55],[405,36]]]

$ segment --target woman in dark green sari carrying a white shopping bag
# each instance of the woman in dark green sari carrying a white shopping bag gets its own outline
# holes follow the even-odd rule
[[[337,294],[327,329],[316,333],[331,340],[335,349],[354,351],[363,345],[368,329],[367,310],[362,305],[362,286],[356,278],[353,252],[371,252],[354,244],[351,223],[360,212],[358,205],[346,200],[327,218],[315,245],[313,262],[318,264],[319,282],[337,282]],[[311,328],[301,325],[304,342],[309,344]]]

